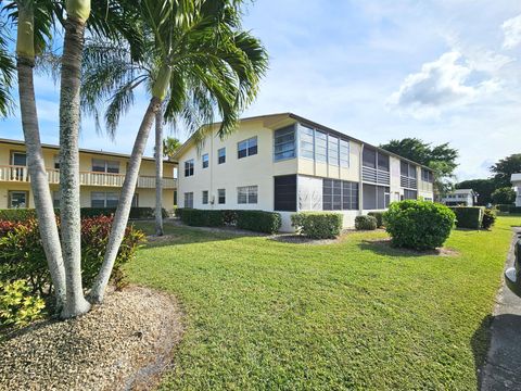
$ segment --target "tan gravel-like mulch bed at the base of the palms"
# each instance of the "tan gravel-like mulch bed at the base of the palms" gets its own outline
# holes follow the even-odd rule
[[[171,366],[182,335],[174,298],[129,287],[65,321],[41,320],[0,342],[0,390],[144,390]]]

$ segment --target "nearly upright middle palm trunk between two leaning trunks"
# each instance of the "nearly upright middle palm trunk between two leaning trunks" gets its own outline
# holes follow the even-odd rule
[[[90,304],[81,285],[81,220],[79,215],[79,89],[85,22],[68,17],[60,89],[60,211],[65,264],[66,302],[63,318],[87,313]]]

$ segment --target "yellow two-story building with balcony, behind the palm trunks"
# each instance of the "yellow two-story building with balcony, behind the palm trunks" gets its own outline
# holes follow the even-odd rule
[[[43,159],[54,205],[60,206],[59,147],[43,144]],[[117,206],[119,191],[125,180],[129,155],[81,149],[79,151],[79,179],[81,207]],[[166,210],[174,209],[173,162],[165,161],[163,178],[163,202]],[[27,171],[25,143],[0,139],[0,209],[34,207],[30,178]],[[155,205],[155,162],[143,157],[134,206]]]

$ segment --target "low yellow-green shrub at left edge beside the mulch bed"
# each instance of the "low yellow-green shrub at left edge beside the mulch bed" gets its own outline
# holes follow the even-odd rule
[[[40,316],[46,304],[29,292],[24,280],[0,282],[0,327],[25,326]]]

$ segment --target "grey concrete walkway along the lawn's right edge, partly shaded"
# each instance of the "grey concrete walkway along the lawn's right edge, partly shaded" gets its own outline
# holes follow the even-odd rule
[[[513,266],[513,244],[521,238],[521,228],[510,245],[506,267]],[[481,390],[521,390],[521,298],[514,295],[505,281],[497,294],[492,339],[481,371]]]

